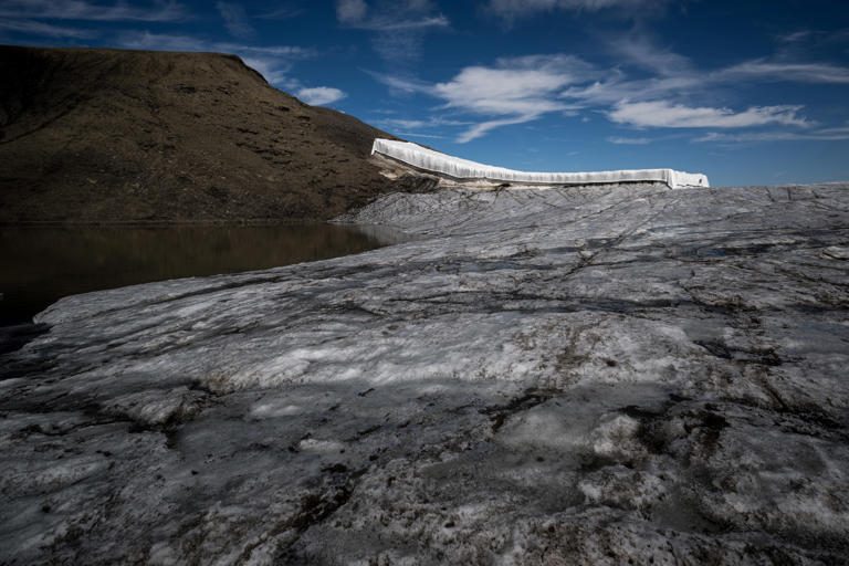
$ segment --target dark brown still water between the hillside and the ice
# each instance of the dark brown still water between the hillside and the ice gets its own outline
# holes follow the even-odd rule
[[[324,260],[385,234],[332,224],[0,228],[0,325],[76,293]]]

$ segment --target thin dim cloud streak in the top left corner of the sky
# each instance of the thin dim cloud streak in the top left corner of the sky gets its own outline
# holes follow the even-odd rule
[[[87,0],[0,0],[0,18],[51,20],[165,22],[186,18],[186,9],[174,0],[154,0],[134,7],[126,2]]]

